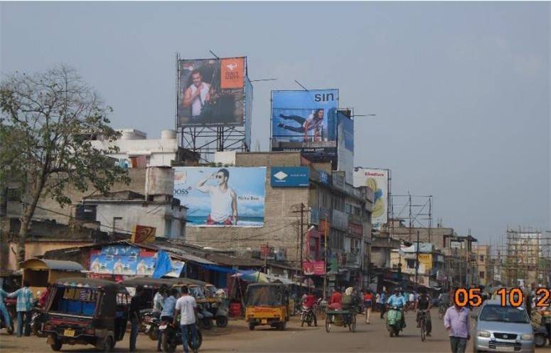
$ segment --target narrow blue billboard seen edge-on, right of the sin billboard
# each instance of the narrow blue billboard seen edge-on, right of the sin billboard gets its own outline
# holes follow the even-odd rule
[[[349,111],[349,110],[348,110]],[[337,112],[337,170],[345,172],[347,184],[353,184],[354,120]]]

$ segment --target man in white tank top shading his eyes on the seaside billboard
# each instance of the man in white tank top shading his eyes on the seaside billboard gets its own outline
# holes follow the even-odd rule
[[[230,172],[222,168],[201,180],[197,184],[198,191],[210,194],[210,214],[207,224],[220,224],[224,226],[237,226],[237,195],[228,186]],[[218,186],[205,185],[209,180],[218,181]]]

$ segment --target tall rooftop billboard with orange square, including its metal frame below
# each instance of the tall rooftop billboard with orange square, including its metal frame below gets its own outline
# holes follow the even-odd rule
[[[188,60],[176,54],[180,147],[197,152],[202,162],[213,162],[215,152],[250,150],[253,88],[247,73],[246,56]]]

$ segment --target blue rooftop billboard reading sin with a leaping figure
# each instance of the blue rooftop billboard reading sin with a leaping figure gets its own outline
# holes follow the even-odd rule
[[[272,151],[336,160],[338,90],[272,91]]]

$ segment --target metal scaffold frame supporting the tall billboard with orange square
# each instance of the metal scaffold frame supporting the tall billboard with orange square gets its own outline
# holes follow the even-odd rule
[[[212,52],[211,52],[212,53]],[[203,162],[213,162],[215,152],[239,151],[249,152],[247,146],[247,134],[245,132],[246,122],[242,126],[233,125],[205,125],[183,127],[178,123],[178,93],[180,88],[180,66],[179,61],[185,60],[176,53],[176,110],[174,120],[176,131],[180,135],[179,146],[184,149],[197,152]],[[245,80],[248,80],[247,57],[245,56]],[[246,102],[243,100],[243,109]],[[251,119],[252,117],[245,117]]]

